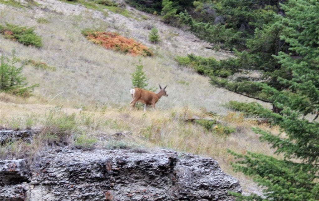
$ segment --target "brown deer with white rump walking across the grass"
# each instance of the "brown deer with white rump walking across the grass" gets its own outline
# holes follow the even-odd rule
[[[167,85],[166,85],[167,87]],[[162,88],[159,85],[159,93],[155,94],[154,92],[147,91],[145,89],[134,88],[130,90],[133,100],[130,102],[130,106],[135,107],[135,103],[141,102],[144,103],[144,112],[146,111],[146,105],[152,105],[155,109],[155,104],[157,101],[162,97],[167,97],[168,94],[166,93],[166,87]]]

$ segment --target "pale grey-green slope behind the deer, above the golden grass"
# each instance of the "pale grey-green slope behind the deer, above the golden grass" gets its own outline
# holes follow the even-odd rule
[[[82,107],[92,105],[127,106],[130,102],[131,75],[135,66],[144,66],[150,86],[168,85],[168,99],[161,99],[158,108],[204,107],[210,111],[226,113],[221,104],[229,100],[249,101],[248,98],[213,88],[208,78],[191,70],[180,68],[174,61],[177,55],[194,53],[216,59],[228,57],[227,53],[206,49],[209,44],[200,41],[187,31],[170,27],[159,17],[145,14],[126,6],[131,17],[105,10],[90,10],[82,5],[61,1],[36,1],[39,6],[16,8],[1,5],[1,23],[36,27],[43,38],[40,49],[26,47],[4,39],[1,35],[1,52],[9,55],[13,48],[20,59],[33,59],[56,67],[56,71],[25,68],[30,83],[40,83],[34,94],[52,103]],[[43,20],[45,19],[45,20]],[[42,23],[45,21],[46,23]],[[157,27],[161,42],[148,41],[149,27]],[[132,57],[94,45],[81,34],[85,28],[115,31],[127,38],[149,46],[155,52],[151,58]],[[57,95],[58,94],[58,95]],[[56,96],[57,95],[57,96]]]

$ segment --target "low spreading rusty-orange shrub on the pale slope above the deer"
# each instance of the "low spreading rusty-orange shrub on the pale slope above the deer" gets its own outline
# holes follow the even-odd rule
[[[102,31],[83,31],[86,38],[98,45],[102,45],[106,49],[118,50],[131,55],[152,56],[153,52],[141,43],[137,43],[132,38],[124,38],[117,33]]]

